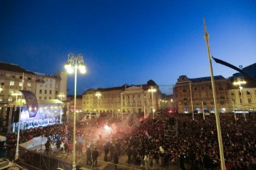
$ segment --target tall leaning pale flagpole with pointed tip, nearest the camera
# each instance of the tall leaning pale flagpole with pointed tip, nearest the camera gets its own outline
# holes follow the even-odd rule
[[[203,18],[203,27],[204,27],[204,30],[205,30],[205,35],[203,35],[203,38],[206,39],[206,47],[207,47],[209,67],[210,67],[210,79],[211,79],[212,89],[213,89],[213,101],[214,101],[217,133],[218,133],[218,144],[219,144],[219,149],[220,149],[221,169],[225,170],[225,160],[224,160],[224,154],[223,154],[223,143],[222,143],[221,130],[220,130],[220,115],[219,115],[218,110],[217,110],[216,91],[215,91],[215,83],[214,83],[214,77],[213,77],[213,67],[212,67],[212,63],[211,63],[211,60],[210,60],[209,35],[207,33],[207,30],[206,30],[206,23],[205,23],[204,18]]]

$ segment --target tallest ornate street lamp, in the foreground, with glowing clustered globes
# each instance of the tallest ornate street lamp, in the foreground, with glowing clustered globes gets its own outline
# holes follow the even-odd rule
[[[74,125],[73,125],[73,170],[75,170],[75,121],[76,121],[76,88],[77,88],[77,74],[78,69],[80,73],[85,74],[85,64],[82,58],[82,55],[79,54],[77,57],[73,53],[68,54],[68,63],[65,64],[65,69],[67,69],[68,73],[73,73],[75,70],[75,94],[74,94]]]

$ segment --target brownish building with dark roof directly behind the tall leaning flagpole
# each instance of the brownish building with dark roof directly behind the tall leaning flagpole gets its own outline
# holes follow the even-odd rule
[[[228,98],[230,80],[222,76],[215,76],[214,80],[218,112],[232,111]],[[202,113],[203,109],[215,113],[210,77],[188,79],[186,76],[180,76],[174,87],[174,98],[178,113]]]

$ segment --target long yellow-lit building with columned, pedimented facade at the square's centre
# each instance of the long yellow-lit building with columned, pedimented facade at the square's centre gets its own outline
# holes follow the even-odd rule
[[[149,91],[155,89],[155,91]],[[142,85],[89,89],[82,94],[82,111],[100,113],[151,113],[159,109],[159,86]]]

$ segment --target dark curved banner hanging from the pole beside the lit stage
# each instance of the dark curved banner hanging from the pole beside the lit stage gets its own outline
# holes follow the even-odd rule
[[[26,106],[28,108],[29,118],[35,117],[38,112],[38,102],[36,100],[36,95],[31,91],[20,90],[25,96]]]

